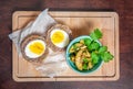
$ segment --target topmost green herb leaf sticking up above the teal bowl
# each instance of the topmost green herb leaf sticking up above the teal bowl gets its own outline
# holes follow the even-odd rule
[[[99,29],[95,29],[93,32],[90,34],[92,40],[99,40],[102,37],[102,32]]]

